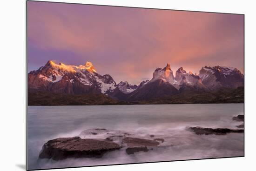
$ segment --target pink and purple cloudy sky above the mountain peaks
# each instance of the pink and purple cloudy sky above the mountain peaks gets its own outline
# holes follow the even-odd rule
[[[93,63],[118,83],[175,71],[233,66],[243,72],[243,15],[27,1],[28,71],[51,59]]]

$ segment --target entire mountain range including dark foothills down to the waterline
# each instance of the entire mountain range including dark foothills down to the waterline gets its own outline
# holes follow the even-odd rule
[[[243,86],[244,75],[234,67],[204,66],[198,75],[180,67],[174,76],[167,64],[156,68],[151,80],[131,85],[127,81],[117,84],[110,75],[99,74],[91,62],[72,66],[49,60],[28,73],[28,104],[243,103]],[[47,100],[49,96],[56,102]],[[77,99],[94,102],[80,103]]]

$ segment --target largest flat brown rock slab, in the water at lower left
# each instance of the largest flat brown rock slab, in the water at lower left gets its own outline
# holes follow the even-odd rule
[[[99,139],[56,138],[43,145],[39,158],[100,158],[104,153],[120,148],[115,142]]]

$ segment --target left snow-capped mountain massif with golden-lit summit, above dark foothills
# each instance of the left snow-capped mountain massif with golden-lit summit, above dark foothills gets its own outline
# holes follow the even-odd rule
[[[55,64],[49,60],[45,66],[28,73],[28,89],[55,93],[84,94],[106,93],[116,83],[110,75],[101,76],[87,62],[84,66]]]

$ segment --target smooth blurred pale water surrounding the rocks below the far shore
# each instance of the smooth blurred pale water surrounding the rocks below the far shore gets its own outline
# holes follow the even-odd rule
[[[29,106],[28,169],[243,156],[241,133],[196,135],[186,130],[188,126],[237,129],[242,123],[232,117],[238,114],[243,114],[243,104]],[[164,138],[161,145],[172,146],[135,155],[121,149],[103,158],[38,159],[48,140],[78,136],[91,128],[122,130],[148,139],[153,134]]]

